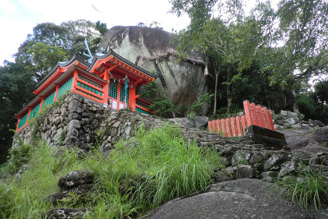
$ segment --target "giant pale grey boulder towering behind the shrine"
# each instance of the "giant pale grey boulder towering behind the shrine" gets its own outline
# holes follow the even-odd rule
[[[195,104],[207,93],[205,64],[201,53],[189,53],[185,61],[178,61],[176,44],[170,45],[172,34],[149,27],[111,28],[103,37],[99,48],[109,49],[140,67],[156,72],[157,85],[179,108]],[[203,114],[208,107],[203,107]]]

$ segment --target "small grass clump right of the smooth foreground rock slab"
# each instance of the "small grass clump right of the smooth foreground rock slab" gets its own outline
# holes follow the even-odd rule
[[[292,203],[308,210],[313,205],[316,210],[322,208],[323,203],[328,203],[328,177],[322,170],[312,169],[305,164],[299,164],[300,171],[297,175],[277,178],[273,190],[280,189],[280,194],[286,194]]]

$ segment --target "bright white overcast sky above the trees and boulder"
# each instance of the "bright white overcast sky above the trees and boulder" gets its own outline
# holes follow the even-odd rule
[[[169,32],[186,28],[188,16],[178,18],[168,13],[170,8],[168,0],[0,0],[0,66],[5,59],[14,61],[12,54],[37,24],[87,19],[106,23],[108,28],[154,21]]]

